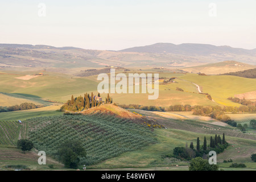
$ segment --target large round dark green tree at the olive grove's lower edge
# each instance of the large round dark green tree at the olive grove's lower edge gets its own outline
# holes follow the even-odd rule
[[[56,156],[66,168],[76,169],[80,158],[86,157],[86,151],[79,140],[68,140],[61,144]]]

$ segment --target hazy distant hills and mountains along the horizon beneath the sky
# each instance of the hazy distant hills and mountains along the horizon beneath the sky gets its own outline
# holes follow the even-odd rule
[[[100,68],[113,65],[180,69],[229,60],[256,65],[256,49],[210,44],[156,43],[120,51],[102,51],[76,47],[0,44],[0,68]]]

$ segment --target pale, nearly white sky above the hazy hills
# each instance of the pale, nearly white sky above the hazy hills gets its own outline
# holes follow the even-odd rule
[[[256,1],[1,0],[0,43],[121,50],[154,43],[256,48]]]

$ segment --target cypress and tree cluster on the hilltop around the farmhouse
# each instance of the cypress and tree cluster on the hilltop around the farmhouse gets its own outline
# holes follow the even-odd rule
[[[100,96],[100,93],[98,93],[98,97]],[[105,104],[112,104],[113,103],[113,98],[106,97],[105,99]],[[69,110],[69,111],[82,111],[86,109],[90,109],[92,107],[97,107],[102,105],[102,101],[98,101],[94,98],[93,92],[91,94],[85,93],[84,97],[79,96],[74,98],[74,96],[71,96],[71,100],[68,100],[66,104],[64,104],[61,107],[62,111]]]

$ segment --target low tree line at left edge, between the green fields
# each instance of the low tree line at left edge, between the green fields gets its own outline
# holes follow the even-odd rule
[[[0,113],[3,112],[10,112],[10,111],[16,111],[16,110],[30,110],[30,109],[37,109],[40,107],[44,107],[43,105],[35,105],[34,103],[27,103],[24,102],[20,105],[13,105],[9,107],[2,107],[0,106]]]

